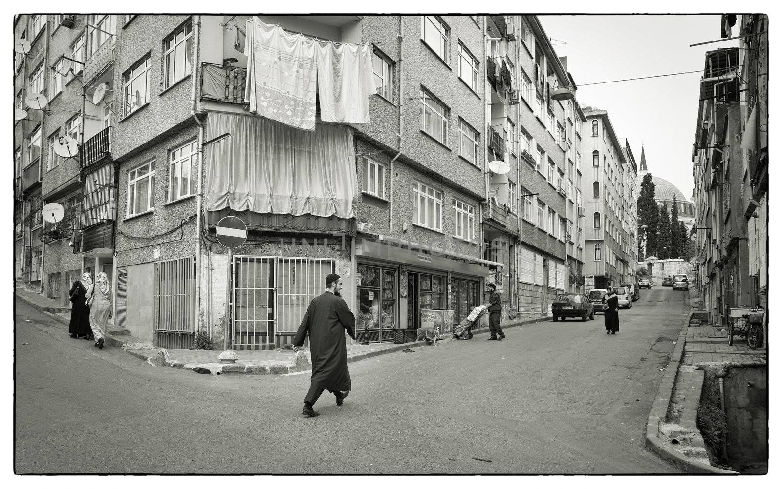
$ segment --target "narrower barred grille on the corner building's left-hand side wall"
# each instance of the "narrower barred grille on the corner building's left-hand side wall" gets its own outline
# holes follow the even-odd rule
[[[155,263],[156,344],[190,348],[195,330],[195,257]]]

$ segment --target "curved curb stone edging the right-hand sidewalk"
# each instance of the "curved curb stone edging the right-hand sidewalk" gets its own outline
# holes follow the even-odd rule
[[[673,354],[665,367],[665,373],[662,375],[662,381],[655,395],[655,401],[651,405],[649,416],[646,423],[645,441],[646,446],[652,452],[657,453],[662,459],[673,462],[677,467],[686,473],[712,473],[712,474],[738,474],[731,470],[723,470],[718,467],[692,460],[677,451],[669,443],[660,437],[660,425],[664,423],[665,416],[668,414],[668,406],[673,396],[673,387],[676,384],[679,366],[684,356],[684,344],[687,340],[687,327],[690,323],[692,310],[687,314],[676,340],[676,348],[673,348]]]

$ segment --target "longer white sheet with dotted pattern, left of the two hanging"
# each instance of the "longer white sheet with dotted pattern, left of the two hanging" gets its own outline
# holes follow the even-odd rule
[[[300,129],[315,129],[315,40],[288,34],[257,17],[246,23],[249,112]]]

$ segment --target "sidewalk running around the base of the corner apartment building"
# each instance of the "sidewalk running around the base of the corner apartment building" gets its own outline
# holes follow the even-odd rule
[[[47,316],[56,319],[65,327],[70,323],[70,312],[66,308],[52,307],[56,305],[51,299],[42,297],[34,292],[17,291],[16,297],[27,304],[44,312]],[[59,310],[55,310],[59,309]],[[533,318],[533,319],[512,319],[503,323],[503,328],[513,328],[525,326],[527,324],[550,321],[551,317]],[[472,330],[473,334],[488,333],[489,327],[481,327]],[[437,341],[437,344],[444,344],[448,341],[455,341],[451,338]],[[462,341],[462,340],[459,340]],[[221,363],[218,356],[220,350],[167,350],[157,348],[152,341],[142,340],[132,337],[129,330],[120,330],[109,327],[106,334],[106,344],[115,348],[121,348],[124,351],[145,360],[154,366],[169,366],[176,369],[190,369],[197,373],[210,373],[212,375],[252,373],[256,375],[264,374],[282,374],[307,372],[311,369],[310,348],[305,348],[307,360],[299,358],[296,360],[296,353],[292,350],[235,350],[237,359],[235,363]],[[407,348],[429,347],[427,341],[412,341],[409,343],[395,344],[393,342],[360,344],[347,344],[347,361],[357,362],[358,360],[368,359],[377,355],[387,353],[401,352]],[[436,345],[432,345],[436,346]]]

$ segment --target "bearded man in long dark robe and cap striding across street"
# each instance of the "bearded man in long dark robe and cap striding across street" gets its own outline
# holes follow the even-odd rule
[[[293,338],[293,347],[297,349],[303,346],[307,333],[310,334],[312,377],[310,391],[304,398],[303,416],[320,414],[312,406],[325,390],[335,395],[337,405],[343,405],[350,394],[345,330],[356,339],[356,318],[339,296],[341,289],[339,275],[330,273],[326,277],[326,291],[312,299]]]

